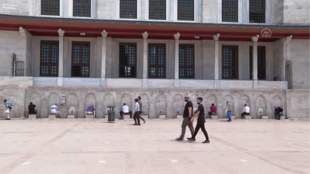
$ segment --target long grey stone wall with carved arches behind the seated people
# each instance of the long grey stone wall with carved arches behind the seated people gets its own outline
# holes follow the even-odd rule
[[[310,91],[304,90],[305,96],[310,96]],[[184,95],[189,94],[194,107],[197,108],[196,98],[204,98],[203,104],[206,113],[212,103],[218,108],[219,118],[225,118],[224,110],[226,101],[230,101],[233,107],[233,114],[240,117],[243,105],[248,103],[254,118],[259,118],[257,111],[263,108],[264,115],[273,115],[273,106],[282,106],[286,114],[286,91],[285,90],[260,90],[260,89],[143,89],[143,88],[73,88],[73,87],[2,87],[0,99],[8,99],[13,104],[13,117],[27,115],[28,104],[33,102],[38,107],[38,115],[46,118],[50,106],[60,102],[61,94],[66,95],[66,104],[59,106],[62,117],[66,117],[66,112],[73,106],[76,108],[79,118],[84,117],[84,112],[89,105],[94,105],[97,109],[98,118],[103,118],[107,113],[109,105],[116,106],[116,116],[122,108],[122,103],[126,103],[133,110],[134,99],[138,96],[142,98],[143,111],[149,118],[158,118],[159,114],[166,114],[167,118],[175,118],[177,112],[183,113]],[[302,93],[290,93],[292,101],[300,101]],[[307,98],[304,98],[307,99]],[[307,101],[307,100],[305,100]],[[301,101],[303,102],[303,101]],[[289,117],[299,117],[302,113],[295,111],[299,106],[289,105]],[[303,105],[308,107],[308,105]],[[288,108],[289,109],[289,108]],[[0,113],[4,117],[4,112]]]

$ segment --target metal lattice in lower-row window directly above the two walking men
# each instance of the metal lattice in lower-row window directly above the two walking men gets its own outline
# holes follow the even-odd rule
[[[193,45],[179,46],[179,78],[195,78],[195,55]]]

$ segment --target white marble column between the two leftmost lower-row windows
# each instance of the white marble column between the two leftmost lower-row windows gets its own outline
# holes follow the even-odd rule
[[[58,29],[59,35],[59,56],[58,56],[58,79],[57,86],[64,85],[64,30]]]

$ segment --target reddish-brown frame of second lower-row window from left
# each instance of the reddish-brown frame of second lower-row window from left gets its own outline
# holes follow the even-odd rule
[[[88,51],[89,62],[88,62],[88,64],[85,64],[85,63],[74,64],[73,46],[77,43],[80,45],[80,62],[82,62],[82,51],[83,51],[81,46],[83,44],[87,44],[89,46],[89,51]],[[86,67],[87,65],[88,65],[88,76],[82,76],[82,69],[80,70],[81,76],[74,76],[74,72],[73,72],[74,66]],[[91,75],[90,65],[91,65],[91,42],[90,41],[72,41],[72,45],[71,45],[71,77],[86,77],[86,78],[90,77],[90,75]]]

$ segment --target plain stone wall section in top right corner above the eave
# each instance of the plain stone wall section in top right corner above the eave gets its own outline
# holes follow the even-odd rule
[[[284,23],[310,23],[309,0],[284,0]]]

